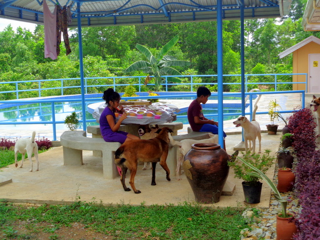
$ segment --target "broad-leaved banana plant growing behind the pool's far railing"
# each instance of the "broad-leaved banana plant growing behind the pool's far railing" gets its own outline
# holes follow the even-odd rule
[[[173,37],[167,42],[161,49],[157,57],[155,57],[148,48],[140,44],[136,44],[136,48],[146,56],[148,61],[139,60],[128,66],[124,72],[132,72],[142,70],[142,72],[148,74],[144,84],[147,85],[152,78],[155,80],[155,91],[161,89],[161,84],[164,79],[163,75],[181,75],[179,71],[173,68],[173,66],[190,66],[190,61],[177,60],[176,57],[166,55],[167,52],[177,44],[179,40],[178,36]],[[153,77],[151,77],[153,76]],[[175,77],[168,77],[168,81],[173,83],[181,83],[180,79]]]

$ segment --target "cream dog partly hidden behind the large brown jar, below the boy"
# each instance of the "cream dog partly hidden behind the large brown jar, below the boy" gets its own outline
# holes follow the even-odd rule
[[[181,180],[180,169],[183,157],[187,154],[189,150],[192,149],[192,144],[195,143],[218,143],[218,135],[208,133],[210,138],[202,139],[202,140],[193,140],[193,139],[184,139],[180,142],[175,141],[172,136],[169,136],[170,144],[172,146],[178,146],[177,149],[177,169],[176,169],[176,177],[177,180]]]

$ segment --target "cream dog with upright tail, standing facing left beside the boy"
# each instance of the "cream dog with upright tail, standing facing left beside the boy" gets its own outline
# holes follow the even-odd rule
[[[259,152],[261,152],[261,130],[260,125],[256,121],[256,109],[258,107],[255,107],[255,110],[252,115],[252,121],[249,121],[246,117],[239,117],[237,120],[233,122],[236,127],[243,127],[243,137],[245,139],[245,150],[248,152],[248,150],[251,150],[251,142],[252,142],[252,152],[256,153],[256,138],[259,140]],[[248,149],[248,141],[249,141],[249,149]]]

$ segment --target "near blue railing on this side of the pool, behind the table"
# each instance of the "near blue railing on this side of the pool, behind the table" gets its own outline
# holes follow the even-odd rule
[[[164,92],[163,92],[164,93]],[[283,94],[283,93],[301,93],[302,94],[302,106],[305,105],[304,103],[304,98],[305,98],[305,91],[303,90],[296,90],[296,91],[273,91],[273,92],[246,92],[246,95],[249,95],[250,102],[252,103],[253,100],[253,95],[257,94]],[[217,93],[212,93],[211,96],[217,96]],[[224,93],[224,97],[227,96],[239,96],[241,97],[240,92],[236,93]],[[139,96],[139,99],[161,99],[161,98],[181,98],[181,97],[196,97],[196,94],[179,94],[179,95],[163,95],[161,94],[160,96]],[[136,99],[137,97],[122,97],[123,100],[130,100],[130,99]],[[1,103],[5,104],[14,104],[14,105],[22,105],[22,104],[33,104],[33,103],[51,103],[51,111],[52,111],[52,120],[51,121],[30,121],[30,122],[12,122],[12,121],[1,121],[0,124],[52,124],[53,126],[53,140],[57,140],[57,134],[56,134],[56,124],[61,124],[64,123],[64,121],[58,121],[55,118],[55,103],[57,102],[79,102],[81,101],[80,99],[72,99],[72,98],[67,98],[67,99],[30,99],[30,100],[7,100],[7,101],[0,101]],[[85,102],[97,102],[101,101],[98,98],[85,98]],[[252,105],[252,104],[251,104]],[[250,105],[249,108],[249,113],[248,115],[252,115],[252,106]],[[291,113],[293,111],[280,111],[280,113]],[[268,112],[256,112],[256,114],[268,114]],[[238,116],[238,113],[226,113],[224,114],[225,116]],[[217,117],[218,114],[208,114],[206,117]],[[178,118],[179,119],[179,118]],[[86,120],[84,123],[82,120],[79,120],[82,124],[86,124],[87,122],[95,122],[96,120]]]

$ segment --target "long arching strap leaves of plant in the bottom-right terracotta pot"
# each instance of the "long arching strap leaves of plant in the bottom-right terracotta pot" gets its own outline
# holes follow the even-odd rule
[[[248,167],[250,167],[253,171],[255,171],[255,172],[247,172],[248,175],[251,175],[251,176],[259,178],[259,179],[262,179],[268,184],[268,186],[274,192],[274,196],[275,196],[276,200],[281,205],[282,217],[288,217],[288,214],[287,214],[288,201],[283,200],[281,198],[280,192],[278,191],[276,185],[264,173],[262,173],[259,169],[257,169],[256,167],[254,167],[253,165],[251,165],[250,163],[248,163],[244,159],[242,159],[240,157],[238,157],[238,158],[239,158],[240,161],[242,161],[244,164],[246,164]]]

